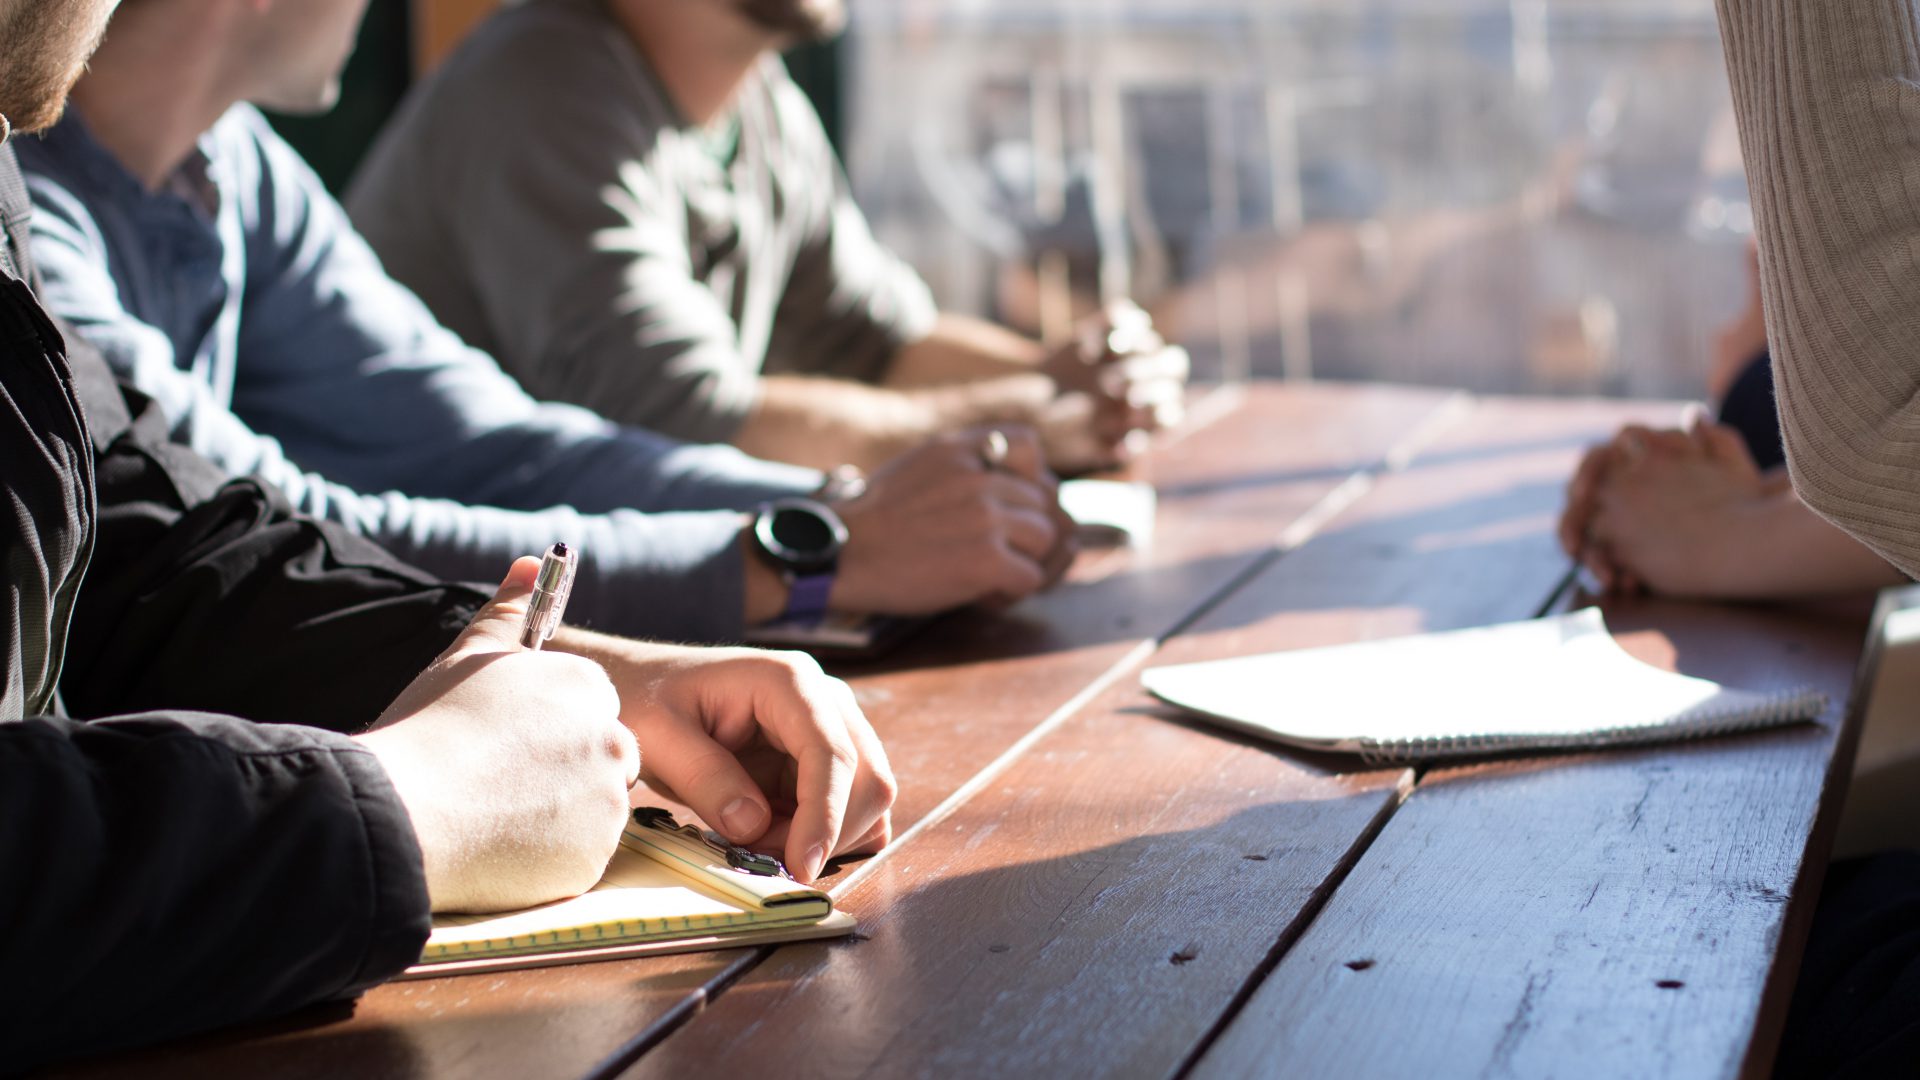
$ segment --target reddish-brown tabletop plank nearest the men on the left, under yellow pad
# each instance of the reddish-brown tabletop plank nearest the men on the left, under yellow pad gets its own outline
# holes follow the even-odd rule
[[[1252,388],[1213,423],[1156,450],[1150,552],[1085,559],[1062,588],[1006,613],[931,626],[885,665],[845,675],[902,782],[910,828],[1142,642],[1185,619],[1267,552],[1273,534],[1434,415],[1438,392]],[[636,1055],[764,953],[457,976],[384,986],[351,1013],[117,1057],[90,1074],[559,1076]]]

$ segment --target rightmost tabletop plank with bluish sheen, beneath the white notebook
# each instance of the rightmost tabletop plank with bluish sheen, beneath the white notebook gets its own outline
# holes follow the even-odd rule
[[[1649,663],[1814,684],[1832,707],[1818,726],[1423,778],[1194,1076],[1770,1072],[1851,761],[1864,609],[1649,601],[1609,623]]]

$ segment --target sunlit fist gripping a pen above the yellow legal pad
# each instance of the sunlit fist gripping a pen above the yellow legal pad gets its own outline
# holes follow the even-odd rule
[[[540,559],[357,740],[413,819],[434,911],[507,911],[578,896],[626,826],[639,749],[589,659],[520,648]]]

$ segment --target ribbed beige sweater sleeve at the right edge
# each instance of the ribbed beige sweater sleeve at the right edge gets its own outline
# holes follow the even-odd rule
[[[1920,575],[1920,10],[1716,4],[1793,488]]]

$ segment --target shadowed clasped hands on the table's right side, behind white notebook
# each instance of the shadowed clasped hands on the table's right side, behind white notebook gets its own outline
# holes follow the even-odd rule
[[[1730,427],[1628,429],[1592,496],[1588,567],[1615,592],[1730,596],[1747,521],[1768,496]]]

